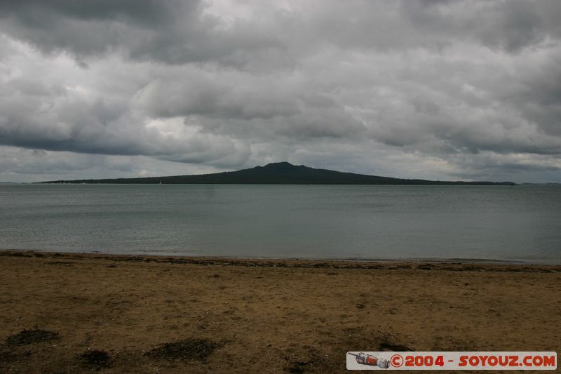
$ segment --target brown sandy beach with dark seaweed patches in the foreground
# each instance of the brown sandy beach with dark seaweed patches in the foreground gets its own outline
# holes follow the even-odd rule
[[[339,373],[560,331],[561,266],[0,252],[2,373]]]

